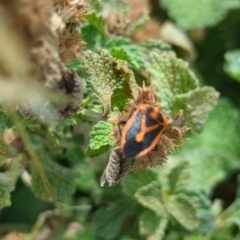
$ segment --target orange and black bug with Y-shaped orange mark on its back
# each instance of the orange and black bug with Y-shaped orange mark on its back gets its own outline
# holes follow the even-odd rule
[[[167,118],[159,106],[141,103],[123,127],[121,147],[127,158],[142,157],[159,142],[168,125]]]

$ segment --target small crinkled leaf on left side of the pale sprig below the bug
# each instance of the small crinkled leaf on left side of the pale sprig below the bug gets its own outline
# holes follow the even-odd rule
[[[157,181],[154,181],[144,187],[141,187],[135,193],[135,198],[144,207],[161,215],[164,211],[164,205],[161,202],[162,189]]]

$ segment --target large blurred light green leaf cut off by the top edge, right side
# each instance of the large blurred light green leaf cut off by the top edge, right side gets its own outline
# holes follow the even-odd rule
[[[219,0],[163,0],[168,14],[184,29],[214,26],[227,13],[225,2]]]

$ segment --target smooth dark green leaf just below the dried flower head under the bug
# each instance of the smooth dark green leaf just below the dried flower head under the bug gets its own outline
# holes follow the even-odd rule
[[[123,191],[128,196],[134,196],[139,188],[155,181],[156,178],[157,174],[153,171],[148,171],[146,174],[142,172],[129,173],[122,182]]]

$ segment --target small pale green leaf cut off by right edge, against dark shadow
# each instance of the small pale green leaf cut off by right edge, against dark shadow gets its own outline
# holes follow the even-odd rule
[[[240,82],[240,49],[227,51],[224,55],[224,71]]]

